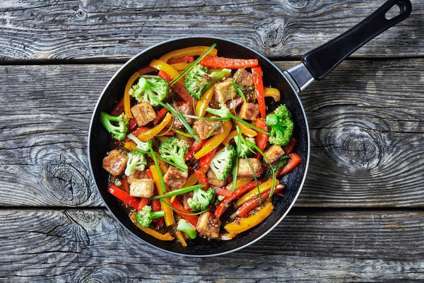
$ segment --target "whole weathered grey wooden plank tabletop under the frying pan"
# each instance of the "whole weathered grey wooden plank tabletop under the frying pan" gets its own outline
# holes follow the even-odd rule
[[[295,208],[219,258],[153,250],[107,212],[86,153],[102,88],[184,35],[237,40],[283,69],[383,1],[134,2],[0,3],[0,281],[424,279],[424,1],[301,94],[312,155]]]

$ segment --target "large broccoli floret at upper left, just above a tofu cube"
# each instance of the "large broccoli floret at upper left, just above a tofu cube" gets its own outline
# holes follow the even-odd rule
[[[170,85],[164,79],[160,78],[143,78],[131,87],[129,95],[134,96],[139,102],[146,101],[152,106],[158,106],[158,102],[152,98],[162,101],[170,92]]]

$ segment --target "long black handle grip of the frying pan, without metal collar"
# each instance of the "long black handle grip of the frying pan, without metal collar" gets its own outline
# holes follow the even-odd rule
[[[400,13],[387,20],[386,13],[394,5],[399,6]],[[365,45],[384,30],[404,21],[411,14],[412,5],[409,0],[389,0],[379,7],[365,20],[355,25],[338,37],[326,42],[302,57],[302,62],[314,79],[321,80],[329,74],[346,57]]]

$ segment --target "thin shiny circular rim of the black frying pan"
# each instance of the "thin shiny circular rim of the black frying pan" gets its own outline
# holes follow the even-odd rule
[[[107,90],[107,88],[109,87],[110,83],[112,83],[112,81],[114,80],[114,78],[122,71],[122,69],[124,69],[126,67],[126,65],[130,64],[132,61],[134,61],[137,57],[139,57],[141,54],[147,52],[148,50],[152,50],[160,45],[172,42],[172,41],[177,41],[177,40],[188,40],[188,39],[193,39],[193,38],[210,38],[210,39],[215,39],[215,40],[224,40],[227,42],[231,42],[235,45],[238,45],[242,48],[245,48],[246,50],[249,50],[251,52],[254,52],[255,54],[257,54],[259,57],[261,57],[262,59],[266,60],[266,62],[268,62],[269,64],[271,64],[272,67],[274,67],[283,77],[283,79],[285,79],[285,81],[288,82],[288,84],[290,85],[290,88],[292,88],[293,93],[295,94],[295,97],[298,99],[298,102],[300,104],[300,109],[302,110],[302,114],[303,117],[305,118],[305,127],[306,127],[306,133],[307,133],[307,160],[305,163],[305,173],[303,174],[303,178],[302,178],[302,182],[300,183],[299,189],[297,194],[295,195],[295,197],[293,198],[292,202],[290,203],[288,209],[285,211],[285,213],[280,217],[280,219],[278,219],[276,221],[275,224],[273,224],[273,226],[271,226],[269,229],[267,229],[266,231],[264,231],[264,233],[262,233],[260,236],[258,236],[257,238],[254,238],[254,240],[249,241],[248,243],[245,243],[245,245],[237,247],[237,248],[232,248],[231,250],[227,250],[225,252],[222,253],[211,253],[211,254],[207,254],[207,255],[189,255],[189,254],[185,254],[185,253],[175,253],[173,251],[170,250],[165,250],[164,248],[159,248],[158,246],[153,245],[152,243],[148,243],[148,241],[143,240],[143,238],[139,237],[138,235],[136,235],[135,233],[133,233],[128,227],[126,227],[122,221],[120,221],[117,216],[114,214],[114,212],[112,212],[112,209],[110,209],[110,207],[107,205],[107,203],[105,202],[105,200],[102,197],[102,194],[100,192],[100,189],[98,187],[97,182],[95,181],[95,176],[94,176],[94,172],[93,172],[93,165],[92,165],[92,161],[91,161],[91,155],[90,155],[90,141],[91,141],[91,134],[92,134],[92,129],[93,129],[93,122],[94,122],[94,118],[95,118],[95,113],[98,112],[98,107],[100,105],[100,100],[102,100],[105,91]],[[125,64],[122,65],[122,67],[120,67],[115,73],[114,75],[110,78],[110,80],[107,82],[105,88],[103,88],[102,93],[100,93],[100,96],[98,98],[97,103],[95,104],[94,110],[93,110],[93,115],[91,116],[90,119],[90,127],[88,129],[88,141],[87,141],[87,153],[88,153],[88,167],[90,169],[90,176],[91,178],[93,178],[93,183],[95,185],[95,188],[98,192],[98,195],[100,196],[100,198],[102,199],[103,204],[105,204],[105,207],[107,208],[107,210],[110,212],[110,214],[112,214],[113,218],[115,220],[117,220],[117,222],[119,223],[119,225],[121,225],[122,227],[124,227],[124,229],[126,231],[128,231],[129,233],[131,233],[131,235],[133,235],[134,237],[138,238],[140,241],[142,241],[143,243],[146,243],[148,246],[151,246],[157,250],[163,251],[165,253],[169,253],[172,255],[177,255],[177,256],[186,256],[186,257],[190,257],[190,258],[211,258],[211,257],[215,257],[215,256],[219,256],[219,255],[226,255],[228,253],[233,253],[237,250],[241,250],[242,248],[246,248],[247,246],[252,245],[253,243],[256,243],[257,241],[259,241],[261,238],[264,238],[264,236],[266,236],[268,233],[270,233],[273,229],[276,228],[276,226],[278,224],[281,223],[281,221],[283,221],[283,219],[285,218],[285,216],[288,214],[288,212],[290,212],[290,209],[292,209],[293,205],[295,204],[296,200],[298,200],[298,197],[300,195],[300,192],[302,191],[303,185],[305,185],[305,180],[306,180],[306,175],[307,175],[307,171],[309,168],[309,162],[310,162],[310,129],[309,129],[309,125],[307,122],[307,116],[305,113],[305,108],[303,107],[302,101],[300,100],[300,97],[297,93],[297,91],[295,91],[295,88],[293,87],[292,83],[290,83],[290,81],[288,80],[288,78],[285,76],[285,74],[283,74],[283,71],[281,71],[281,69],[279,69],[276,64],[273,64],[273,62],[268,59],[267,57],[265,57],[264,55],[262,55],[261,53],[257,52],[256,50],[253,50],[250,47],[247,47],[245,45],[241,45],[239,42],[236,42],[234,40],[228,40],[226,38],[222,38],[222,37],[213,37],[213,36],[187,36],[187,37],[174,37],[170,40],[166,40],[166,41],[162,41],[162,42],[158,42],[155,45],[152,45],[151,47],[148,47],[144,50],[142,50],[141,52],[137,53],[136,55],[134,55],[133,57],[131,57],[131,59],[129,59]]]

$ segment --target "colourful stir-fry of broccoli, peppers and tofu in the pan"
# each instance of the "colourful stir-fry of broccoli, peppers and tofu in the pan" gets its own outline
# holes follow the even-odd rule
[[[108,192],[139,229],[183,246],[260,224],[281,200],[278,179],[300,163],[290,110],[258,60],[218,57],[215,46],[153,59],[100,115]],[[279,106],[267,112],[266,100]]]

